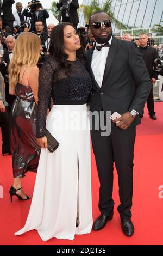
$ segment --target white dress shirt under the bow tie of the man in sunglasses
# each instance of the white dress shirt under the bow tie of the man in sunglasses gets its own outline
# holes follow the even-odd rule
[[[112,41],[112,36],[109,40],[110,45],[111,45],[111,41]],[[96,42],[96,45],[101,45],[101,44],[98,44]],[[109,47],[103,47],[101,51],[98,51],[95,48],[95,50],[93,51],[91,68],[95,76],[95,80],[98,83],[99,87],[102,86],[105,65],[106,65],[106,58],[108,57],[108,53],[109,53]]]

